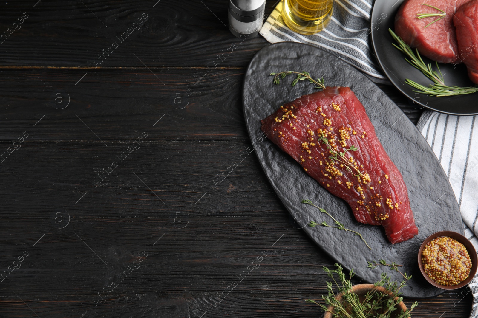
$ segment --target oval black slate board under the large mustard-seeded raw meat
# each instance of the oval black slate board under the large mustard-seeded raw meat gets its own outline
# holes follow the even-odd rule
[[[417,236],[391,245],[383,227],[355,221],[345,201],[329,194],[269,139],[260,142],[261,119],[280,105],[316,91],[307,81],[291,87],[292,75],[280,85],[272,83],[271,72],[288,70],[305,70],[314,77],[323,75],[326,85],[349,86],[355,92],[365,106],[380,142],[403,175],[419,227]],[[383,258],[403,265],[402,270],[413,275],[408,287],[403,288],[405,297],[432,297],[443,292],[421,276],[417,253],[421,242],[434,232],[451,230],[463,233],[456,198],[445,172],[421,133],[380,88],[331,54],[306,44],[281,42],[264,47],[250,62],[244,80],[243,103],[250,138],[272,187],[299,226],[325,253],[345,268],[354,268],[357,276],[368,283],[378,281],[381,271],[399,281],[402,277],[388,267],[370,270],[367,261]],[[333,221],[315,207],[301,204],[302,199],[316,201],[347,228],[360,232],[372,249],[365,246],[359,236],[349,232],[306,226],[309,221],[326,221],[328,224],[333,224]]]

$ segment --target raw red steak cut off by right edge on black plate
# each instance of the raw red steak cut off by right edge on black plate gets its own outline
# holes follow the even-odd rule
[[[458,8],[453,22],[458,58],[467,65],[470,80],[478,84],[478,1],[471,0]]]

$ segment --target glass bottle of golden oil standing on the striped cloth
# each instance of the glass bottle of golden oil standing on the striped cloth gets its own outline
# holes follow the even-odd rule
[[[333,0],[283,0],[282,18],[294,32],[314,34],[322,31],[332,16]]]

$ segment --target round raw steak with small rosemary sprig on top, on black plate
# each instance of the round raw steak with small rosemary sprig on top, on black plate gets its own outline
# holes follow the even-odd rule
[[[456,63],[458,44],[456,42],[453,15],[456,9],[468,0],[406,0],[395,16],[395,33],[420,54],[442,63]],[[439,17],[417,19],[417,13],[440,13],[422,5],[426,3],[444,10],[446,16],[439,21],[427,24]]]

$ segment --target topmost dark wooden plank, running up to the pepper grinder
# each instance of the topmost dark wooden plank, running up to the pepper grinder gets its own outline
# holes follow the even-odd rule
[[[2,40],[0,65],[87,66],[93,71],[101,62],[98,54],[106,51],[100,67],[245,67],[252,54],[267,44],[261,36],[240,41],[232,35],[224,0],[186,4],[175,0],[43,0],[33,7],[36,2],[0,3],[0,34],[20,28],[11,29]],[[274,2],[267,1],[267,14]],[[18,25],[25,12],[28,18]],[[133,25],[146,16],[142,27]],[[139,30],[129,31],[126,40],[120,38],[128,28]],[[118,45],[114,50],[113,42]],[[232,43],[237,48],[231,48]]]

